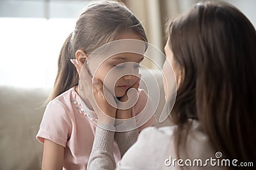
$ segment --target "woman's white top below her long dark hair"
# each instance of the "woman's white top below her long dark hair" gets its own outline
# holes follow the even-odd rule
[[[182,160],[179,160],[180,166],[184,165],[184,169],[224,169],[225,166],[221,167],[221,164],[218,166],[218,160],[221,162],[221,159],[217,159],[218,157],[216,158],[215,155],[218,151],[212,148],[209,138],[202,132],[198,121],[189,121],[192,121],[192,125],[186,145],[188,156],[185,156],[184,148],[181,151]],[[116,169],[180,169],[173,144],[173,132],[175,128],[177,128],[176,125],[161,127],[159,129],[148,127],[141,131],[138,141],[127,150],[122,160],[116,165]],[[96,133],[100,136],[100,132],[102,131],[104,130],[98,130]],[[111,135],[113,136],[113,134],[106,135],[105,131],[105,134],[102,136],[105,139],[108,138],[108,140],[111,140]],[[95,141],[102,143],[100,139],[95,138]],[[98,145],[96,142],[93,143],[93,146],[96,145]],[[111,150],[108,150],[109,148],[101,148],[101,150],[99,147],[96,148],[97,150],[93,150],[90,155],[88,169],[96,169],[96,164],[97,167],[100,164],[104,164],[106,169],[115,169],[115,162],[111,166],[112,164],[108,162],[111,159],[102,159],[102,157],[109,157]],[[176,160],[173,164],[174,159]],[[202,160],[202,164],[199,159]]]

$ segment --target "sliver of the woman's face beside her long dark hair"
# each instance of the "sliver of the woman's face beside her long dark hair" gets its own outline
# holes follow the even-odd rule
[[[179,67],[179,64],[177,64],[177,62],[175,62],[175,60],[173,59],[173,52],[168,42],[169,41],[167,41],[166,45],[164,46],[166,60],[164,61],[164,65],[163,65],[163,73],[167,75],[164,80],[164,93],[165,93],[166,99],[167,99],[168,91],[173,90],[173,87],[172,87],[173,78],[172,76],[168,76],[170,75],[170,71],[172,71],[172,68],[177,80],[177,86],[176,86],[177,88],[179,87],[179,80],[180,80],[180,67]],[[170,66],[170,64],[172,67]]]

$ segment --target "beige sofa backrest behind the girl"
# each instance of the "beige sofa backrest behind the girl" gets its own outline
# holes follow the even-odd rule
[[[161,75],[156,77],[161,82]],[[161,83],[160,89],[163,95]],[[42,104],[50,92],[50,89],[0,87],[0,169],[41,168],[43,145],[35,136],[45,110]]]

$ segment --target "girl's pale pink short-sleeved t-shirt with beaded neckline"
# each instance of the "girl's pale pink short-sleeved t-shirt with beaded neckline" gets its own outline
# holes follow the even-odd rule
[[[132,115],[138,115],[143,110],[147,99],[147,93],[139,90],[138,101],[132,109]],[[75,87],[53,99],[47,104],[36,135],[38,141],[42,143],[44,139],[49,139],[65,147],[63,169],[86,169],[92,152],[96,128],[93,122],[97,122],[97,115],[93,111],[84,113],[79,101]],[[152,117],[146,124],[139,127],[139,131],[155,123],[156,118]],[[116,141],[114,142],[114,157],[116,162],[120,160]]]

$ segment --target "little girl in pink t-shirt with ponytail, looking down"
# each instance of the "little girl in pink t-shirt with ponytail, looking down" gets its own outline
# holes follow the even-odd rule
[[[97,115],[86,98],[83,98],[86,111],[81,107],[77,88],[79,74],[74,63],[76,66],[82,66],[90,53],[116,39],[138,39],[147,42],[139,20],[124,4],[116,1],[96,1],[87,6],[78,18],[74,31],[61,48],[54,89],[36,135],[36,138],[44,143],[42,169],[86,169],[95,135],[96,125],[93,122],[97,122]],[[139,64],[142,59],[143,57],[138,55],[124,55],[122,59],[115,59],[115,63],[102,64],[100,69],[108,71],[122,62]],[[134,68],[138,71],[138,67]],[[94,81],[103,82],[104,75],[100,74],[103,72],[95,74]],[[116,82],[119,84],[116,86],[115,96],[122,101],[122,98],[127,97],[129,88],[138,89],[139,81],[136,76],[122,76]],[[131,110],[133,117],[143,110],[148,99],[145,91],[139,89],[138,92],[138,101]],[[116,111],[116,118],[126,118],[124,115],[118,115],[118,110]],[[156,120],[151,118],[139,127],[138,131],[154,125],[155,122]],[[118,149],[123,142],[124,139],[118,138],[116,133],[113,143],[115,162],[124,155],[125,150]]]

